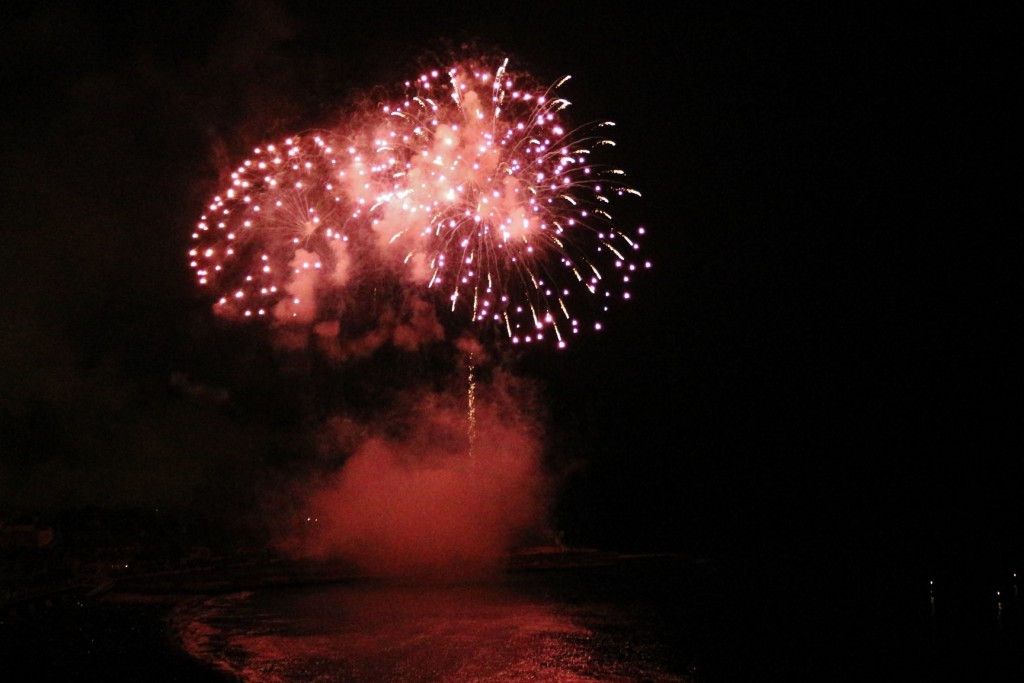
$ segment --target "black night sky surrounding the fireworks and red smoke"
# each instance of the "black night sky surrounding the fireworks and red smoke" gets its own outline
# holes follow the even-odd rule
[[[586,463],[572,540],[1020,553],[1009,23],[596,4],[5,9],[0,507],[244,501],[307,457],[308,394],[209,315],[191,226],[254,144],[478,40],[571,74],[643,194],[631,304],[516,361]]]

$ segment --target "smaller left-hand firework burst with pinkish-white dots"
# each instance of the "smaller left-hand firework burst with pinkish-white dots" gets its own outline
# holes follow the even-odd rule
[[[189,264],[226,317],[309,321],[317,285],[347,271],[344,160],[326,133],[253,151],[193,232]]]

